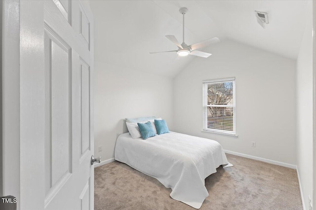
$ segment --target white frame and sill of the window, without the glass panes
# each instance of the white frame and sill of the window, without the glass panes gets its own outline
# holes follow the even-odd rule
[[[233,82],[233,105],[207,105],[207,86],[209,84]],[[203,98],[203,129],[205,132],[219,133],[225,135],[236,135],[236,79],[235,77],[215,79],[215,80],[204,80],[202,81],[202,98]],[[233,108],[233,131],[207,128],[207,107],[232,107]],[[206,113],[205,113],[206,112]]]

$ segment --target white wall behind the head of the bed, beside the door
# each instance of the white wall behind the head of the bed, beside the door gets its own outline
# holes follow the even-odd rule
[[[100,60],[95,61],[94,69],[95,156],[102,156],[103,160],[114,157],[118,135],[128,132],[124,118],[157,116],[173,128],[172,79]],[[98,152],[98,146],[102,146],[102,152]]]

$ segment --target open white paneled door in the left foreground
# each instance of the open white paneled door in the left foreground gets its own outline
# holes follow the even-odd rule
[[[20,0],[21,210],[93,210],[93,20],[78,0]]]

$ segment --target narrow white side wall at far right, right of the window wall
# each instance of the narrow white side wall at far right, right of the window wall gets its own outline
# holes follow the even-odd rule
[[[306,28],[297,59],[297,168],[305,207],[313,198],[313,7],[307,7]],[[314,207],[315,208],[315,207]]]

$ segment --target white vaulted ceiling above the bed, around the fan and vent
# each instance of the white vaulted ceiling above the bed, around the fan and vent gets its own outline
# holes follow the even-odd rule
[[[195,56],[176,53],[165,35],[182,42],[180,7],[187,7],[185,42],[214,36],[296,59],[306,22],[306,0],[91,0],[94,15],[95,60],[133,70],[174,77]],[[263,29],[255,10],[268,12]],[[220,43],[219,43],[220,44]],[[211,48],[207,48],[208,53]],[[202,50],[201,50],[202,51]],[[212,56],[206,59],[212,59]]]

